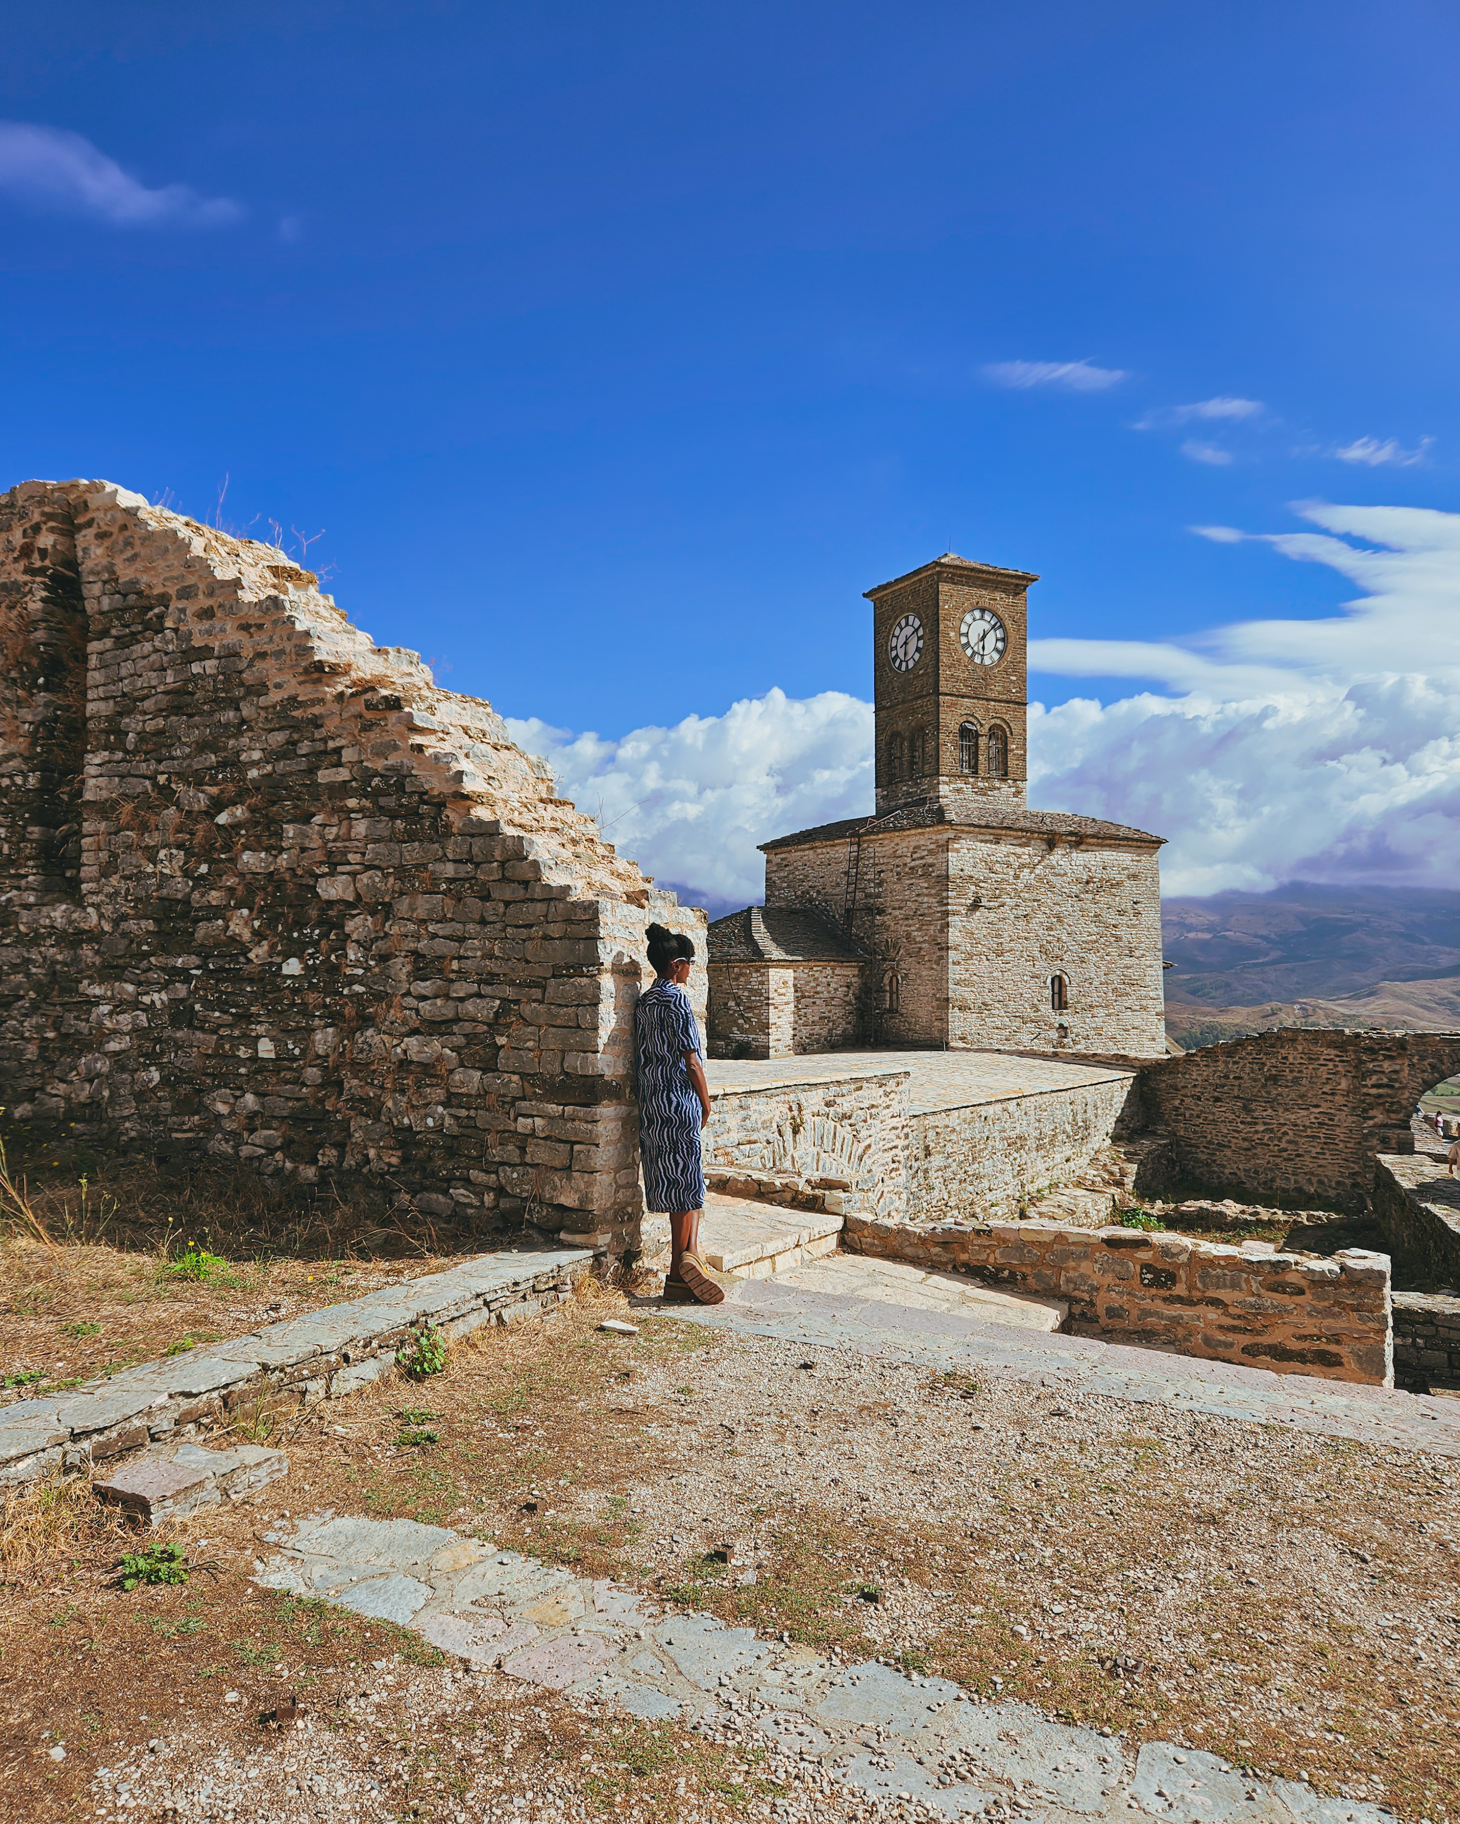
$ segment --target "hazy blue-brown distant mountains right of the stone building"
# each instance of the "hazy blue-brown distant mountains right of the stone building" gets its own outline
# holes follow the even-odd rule
[[[1270,894],[1214,894],[1166,899],[1161,907],[1168,1027],[1203,1010],[1223,1018],[1263,1003],[1332,1001],[1369,996],[1363,1020],[1374,1025],[1456,1025],[1445,1007],[1460,989],[1460,892],[1407,886],[1314,886],[1294,883]],[[1385,1010],[1372,1000],[1383,985]],[[1400,994],[1409,987],[1407,996]],[[1405,1018],[1402,1009],[1416,1018]],[[1424,1021],[1425,1010],[1440,1018]],[[1360,1012],[1358,1007],[1352,1009]],[[1279,1020],[1281,1025],[1330,1025],[1338,1020]]]

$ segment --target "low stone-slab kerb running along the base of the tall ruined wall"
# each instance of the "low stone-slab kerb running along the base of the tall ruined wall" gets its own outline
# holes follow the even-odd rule
[[[506,1322],[518,1310],[566,1299],[591,1264],[584,1248],[478,1255],[230,1342],[102,1375],[55,1399],[0,1406],[0,1483],[84,1472],[151,1439],[192,1437],[241,1401],[336,1399],[385,1373],[412,1324],[460,1335]]]

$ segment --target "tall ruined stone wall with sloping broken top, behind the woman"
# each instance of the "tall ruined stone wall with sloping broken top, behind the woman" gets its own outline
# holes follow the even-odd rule
[[[644,925],[703,914],[272,547],[24,483],[0,611],[13,1118],[633,1248]]]

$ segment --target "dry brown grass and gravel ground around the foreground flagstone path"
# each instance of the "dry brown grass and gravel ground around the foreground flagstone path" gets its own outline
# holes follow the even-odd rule
[[[376,1383],[276,1432],[288,1481],[256,1508],[182,1529],[210,1541],[219,1587],[146,1600],[159,1620],[201,1618],[206,1649],[201,1636],[148,1642],[137,1616],[153,1611],[102,1589],[115,1538],[36,1519],[51,1556],[33,1554],[13,1589],[0,1676],[22,1694],[46,1689],[66,1740],[91,1729],[97,1744],[212,1731],[208,1665],[257,1709],[276,1651],[279,1663],[307,1663],[314,1689],[338,1689],[350,1658],[385,1651],[389,1631],[367,1642],[360,1631],[378,1623],[281,1603],[246,1581],[276,1521],[334,1508],[451,1525],[843,1658],[942,1673],[1130,1740],[1307,1773],[1319,1791],[1367,1789],[1403,1819],[1455,1813],[1460,1510],[1444,1465],[1099,1397],[1071,1415],[1027,1383],[971,1386],[860,1357],[821,1355],[805,1373],[796,1344],[668,1317],[641,1319],[633,1341],[597,1332],[622,1310],[599,1290],[548,1321],[476,1332],[442,1375]],[[407,1408],[431,1414],[436,1445],[403,1441]],[[951,1498],[938,1477],[954,1452],[976,1461]],[[732,1585],[708,1556],[725,1536],[750,1545],[754,1585]],[[53,1627],[68,1603],[86,1620]],[[1095,1620],[1099,1631],[1086,1625]],[[314,1629],[308,1653],[290,1645],[303,1627]],[[80,1678],[91,1649],[78,1629],[100,1629],[113,1665],[117,1653],[151,1654],[146,1724],[128,1693]],[[62,1638],[75,1667],[57,1658]],[[409,1638],[391,1651],[429,1656]],[[1106,1663],[1113,1656],[1128,1663]],[[527,1742],[533,1711],[513,1702],[511,1727]],[[542,1694],[533,1704],[531,1766],[546,1780],[551,1744],[591,1726]],[[642,1753],[668,1751],[670,1738],[690,1753],[672,1729],[644,1731]],[[465,1778],[469,1747],[429,1729],[423,1740],[443,1773]],[[381,1766],[403,1775],[409,1755],[391,1753]],[[624,1788],[642,1795],[635,1815],[672,1817],[672,1786],[641,1778]]]

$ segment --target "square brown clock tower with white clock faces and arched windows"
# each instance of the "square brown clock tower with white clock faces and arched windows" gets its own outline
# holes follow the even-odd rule
[[[953,823],[1024,806],[1031,582],[945,551],[867,591],[880,817],[929,799]]]

